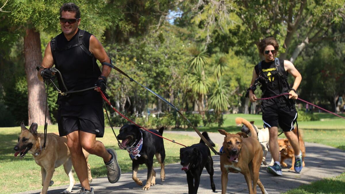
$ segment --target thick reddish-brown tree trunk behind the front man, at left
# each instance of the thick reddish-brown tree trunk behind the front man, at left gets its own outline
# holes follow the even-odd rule
[[[25,73],[28,82],[28,121],[44,125],[45,108],[47,103],[47,94],[45,86],[37,77],[36,66],[42,63],[42,51],[40,33],[34,28],[26,29],[24,37],[24,57]],[[49,110],[47,110],[47,123],[51,124]]]

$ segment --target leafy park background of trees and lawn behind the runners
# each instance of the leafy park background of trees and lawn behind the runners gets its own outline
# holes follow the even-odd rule
[[[41,65],[47,43],[61,32],[58,18],[63,3],[0,0],[0,127],[4,127],[0,130],[7,145],[1,151],[0,171],[6,162],[23,162],[13,159],[20,132],[16,126],[21,122],[44,124],[45,86],[38,81],[35,67]],[[344,0],[75,3],[81,11],[80,29],[102,42],[113,64],[168,99],[200,130],[236,131],[233,114],[238,113],[262,126],[261,116],[254,115],[260,114],[260,102],[250,103],[244,95],[253,68],[261,60],[256,45],[269,36],[279,42],[278,57],[292,61],[302,74],[299,97],[333,112],[343,111]],[[48,90],[47,119],[55,124],[57,93],[52,87]],[[107,92],[115,108],[142,126],[190,130],[169,106],[115,70],[108,77]],[[256,95],[260,96],[260,89]],[[345,149],[345,122],[297,103],[306,141]],[[111,123],[122,126],[127,122],[111,112]],[[56,125],[49,129],[55,132]],[[114,139],[109,141],[115,146]],[[26,160],[32,168],[38,167],[32,158]],[[178,162],[177,155],[170,162]],[[104,173],[99,169],[94,175]],[[338,179],[344,187],[344,174]]]

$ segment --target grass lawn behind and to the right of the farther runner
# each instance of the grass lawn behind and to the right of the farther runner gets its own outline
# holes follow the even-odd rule
[[[313,142],[336,147],[345,150],[345,119],[327,113],[314,113],[320,120],[298,122],[298,128],[303,130],[305,142]],[[342,114],[344,116],[344,114]],[[222,127],[198,127],[200,131],[216,132],[218,129],[225,129],[229,133],[237,133],[240,127],[236,126],[235,118],[242,117],[248,121],[254,121],[258,128],[263,127],[262,115],[229,114],[224,115],[224,125]],[[192,128],[179,130],[194,130]],[[285,138],[284,134],[279,138]],[[290,190],[287,194],[325,194],[325,193],[345,193],[345,173],[333,177],[325,178],[311,184],[302,185]]]

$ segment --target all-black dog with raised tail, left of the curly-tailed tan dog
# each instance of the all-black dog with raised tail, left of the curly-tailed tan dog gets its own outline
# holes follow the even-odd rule
[[[207,132],[202,134],[208,142],[214,147],[215,144],[208,137]],[[200,176],[203,172],[204,167],[210,175],[212,191],[216,191],[216,186],[213,182],[213,159],[211,157],[210,149],[206,146],[204,141],[200,139],[200,143],[193,144],[191,146],[180,149],[181,165],[188,165],[187,183],[188,183],[188,194],[196,194],[198,192]],[[194,182],[193,182],[194,181]]]

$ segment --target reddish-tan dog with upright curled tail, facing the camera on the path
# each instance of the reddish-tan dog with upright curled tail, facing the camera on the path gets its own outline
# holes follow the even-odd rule
[[[252,137],[244,132],[230,134],[223,129],[219,133],[225,135],[223,142],[223,155],[220,156],[221,170],[221,193],[226,193],[228,184],[228,173],[242,173],[246,179],[249,194],[256,193],[256,185],[260,187],[263,194],[267,191],[259,179],[259,170],[263,158],[262,147],[257,140],[254,127],[243,118],[236,118],[237,125],[246,125]]]

